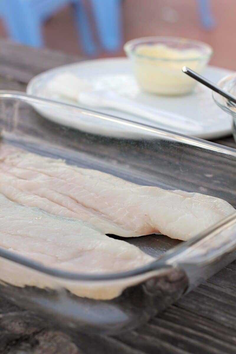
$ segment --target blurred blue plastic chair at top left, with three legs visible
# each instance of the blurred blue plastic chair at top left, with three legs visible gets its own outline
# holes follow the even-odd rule
[[[91,0],[98,38],[107,50],[121,45],[121,0]],[[73,5],[78,35],[88,54],[96,45],[81,0],[0,0],[0,16],[11,39],[35,47],[44,44],[42,22],[67,4]]]

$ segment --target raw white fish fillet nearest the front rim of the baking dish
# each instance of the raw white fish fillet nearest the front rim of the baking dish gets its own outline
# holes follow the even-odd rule
[[[0,247],[47,266],[79,273],[117,273],[154,260],[73,218],[54,216],[0,194]]]

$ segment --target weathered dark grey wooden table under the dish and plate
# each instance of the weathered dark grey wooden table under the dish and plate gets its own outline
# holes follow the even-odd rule
[[[0,41],[0,89],[24,91],[29,79],[77,57]],[[235,147],[232,137],[217,143]],[[44,320],[0,298],[0,353],[236,353],[236,262],[142,328],[115,337],[81,334],[76,343]]]

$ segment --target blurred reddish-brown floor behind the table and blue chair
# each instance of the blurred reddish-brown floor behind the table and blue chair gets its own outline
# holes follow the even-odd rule
[[[236,70],[236,1],[211,0],[211,3],[216,25],[212,30],[205,30],[198,18],[197,0],[123,0],[123,41],[150,35],[199,39],[212,45],[213,65]],[[6,36],[2,25],[0,36]],[[45,23],[44,36],[47,47],[84,56],[69,7]],[[116,53],[101,51],[98,56],[123,55],[121,48]]]

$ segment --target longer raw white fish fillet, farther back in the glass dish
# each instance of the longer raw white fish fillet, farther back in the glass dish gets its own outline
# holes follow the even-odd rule
[[[235,212],[219,198],[140,186],[3,144],[0,181],[11,200],[124,237],[161,232],[188,240]]]

